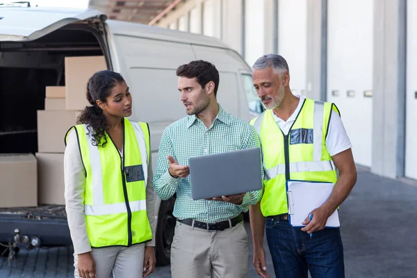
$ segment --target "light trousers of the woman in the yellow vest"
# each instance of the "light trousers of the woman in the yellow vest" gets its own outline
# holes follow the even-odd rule
[[[113,270],[114,278],[143,277],[145,243],[131,247],[92,248],[96,265],[96,278],[108,278]],[[74,278],[79,278],[78,255],[74,254]]]

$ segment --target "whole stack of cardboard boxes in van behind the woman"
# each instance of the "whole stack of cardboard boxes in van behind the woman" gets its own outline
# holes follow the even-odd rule
[[[65,204],[65,133],[85,106],[88,79],[106,70],[103,56],[65,57],[65,86],[49,86],[45,109],[38,111],[38,203]]]

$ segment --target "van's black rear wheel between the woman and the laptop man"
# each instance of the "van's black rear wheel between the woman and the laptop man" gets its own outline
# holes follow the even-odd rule
[[[161,202],[156,228],[156,264],[169,265],[171,261],[171,244],[177,218],[174,218],[175,197]]]

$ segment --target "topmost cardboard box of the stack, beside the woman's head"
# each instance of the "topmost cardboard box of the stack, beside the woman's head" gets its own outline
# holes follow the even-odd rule
[[[67,110],[83,110],[88,103],[88,79],[107,70],[104,56],[65,57],[65,99]]]

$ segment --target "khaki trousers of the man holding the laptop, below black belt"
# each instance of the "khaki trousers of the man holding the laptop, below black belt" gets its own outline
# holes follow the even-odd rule
[[[243,222],[216,232],[177,222],[171,245],[172,278],[246,278],[248,248]]]

